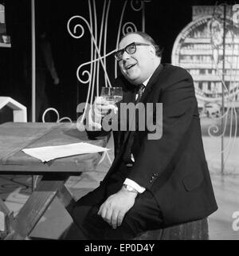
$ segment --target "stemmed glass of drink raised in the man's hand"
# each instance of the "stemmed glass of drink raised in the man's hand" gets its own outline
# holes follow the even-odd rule
[[[122,87],[102,87],[100,96],[104,97],[109,104],[116,104],[123,99]]]

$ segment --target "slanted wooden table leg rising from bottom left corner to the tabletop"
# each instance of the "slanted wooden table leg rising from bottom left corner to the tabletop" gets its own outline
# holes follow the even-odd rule
[[[29,196],[29,199],[14,219],[12,233],[6,237],[6,240],[23,240],[27,238],[41,219],[41,216],[44,215],[50,203],[53,202],[58,188],[62,187],[68,178],[69,175],[61,176],[59,174],[43,176],[32,195]]]

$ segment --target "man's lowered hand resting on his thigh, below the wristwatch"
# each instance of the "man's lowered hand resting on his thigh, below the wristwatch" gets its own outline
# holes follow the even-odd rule
[[[116,229],[123,222],[123,217],[135,204],[137,193],[127,191],[123,187],[119,192],[108,197],[100,206],[100,215],[112,228]]]

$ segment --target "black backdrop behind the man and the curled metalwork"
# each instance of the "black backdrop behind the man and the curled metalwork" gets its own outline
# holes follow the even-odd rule
[[[116,48],[116,35],[124,0],[112,0],[108,18],[107,52]],[[0,48],[0,95],[30,106],[31,87],[24,77],[23,59],[31,49],[30,0],[5,0],[6,30],[10,34],[12,47]],[[163,62],[170,63],[171,50],[178,33],[192,20],[193,5],[215,5],[222,1],[156,1],[146,3],[146,32],[163,48]],[[235,4],[237,1],[227,1]],[[96,0],[100,16],[103,0]],[[46,93],[49,107],[57,108],[60,116],[76,120],[76,105],[86,100],[87,85],[76,79],[77,67],[90,60],[90,36],[85,33],[80,39],[72,38],[67,31],[67,22],[73,15],[88,20],[88,1],[36,0],[36,30],[44,28],[53,49],[53,57],[60,77],[60,85],[53,85],[49,77]],[[140,22],[139,22],[140,21]],[[141,15],[128,9],[124,22],[135,22],[140,28]],[[138,24],[137,24],[138,22]],[[100,26],[100,22],[98,22]],[[85,26],[84,26],[85,27]],[[100,28],[99,28],[100,30]],[[30,56],[29,61],[30,61]],[[108,57],[109,76],[114,77],[113,57]]]

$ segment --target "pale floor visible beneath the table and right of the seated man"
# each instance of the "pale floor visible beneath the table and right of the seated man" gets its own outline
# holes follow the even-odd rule
[[[209,217],[210,239],[239,240],[239,230],[233,230],[233,222],[235,226],[235,222],[237,221],[237,219],[233,219],[233,213],[239,211],[239,161],[237,160],[236,153],[232,153],[234,154],[233,162],[229,161],[227,164],[229,166],[233,164],[233,171],[228,171],[231,168],[227,168],[228,165],[226,165],[225,175],[221,175],[217,158],[211,155],[211,152],[213,152],[212,149],[217,148],[219,141],[214,140],[214,144],[212,144],[212,140],[208,137],[203,137],[203,143],[206,156],[210,159],[210,173],[219,207]],[[238,152],[238,146],[239,140],[237,140],[236,148],[234,148],[236,152]],[[113,148],[112,138],[109,140],[107,147]],[[113,159],[112,150],[109,155]],[[96,168],[96,171],[84,173],[80,177],[71,176],[66,186],[76,198],[80,198],[99,184],[100,179],[104,178],[109,166],[108,159],[104,158],[103,162]],[[5,200],[10,210],[14,211],[14,215],[18,213],[28,199],[30,192],[31,176],[1,176],[0,197]],[[237,216],[239,218],[239,213]],[[236,224],[237,227],[239,225],[238,221]],[[60,239],[69,228],[72,228],[71,217],[58,199],[54,199],[49,209],[45,212],[45,215],[30,234],[30,238]]]

